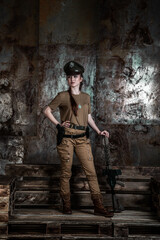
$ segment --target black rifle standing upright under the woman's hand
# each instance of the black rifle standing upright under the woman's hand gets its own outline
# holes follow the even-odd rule
[[[117,181],[117,176],[121,175],[121,169],[112,169],[111,161],[110,161],[110,148],[109,148],[109,141],[106,136],[103,136],[103,146],[104,146],[104,153],[106,159],[106,169],[103,171],[103,175],[107,176],[107,182],[111,187],[111,194],[112,194],[112,205],[114,212],[121,212],[124,211],[124,207],[120,204],[119,200],[115,195],[115,185],[116,183],[124,187],[124,183],[121,181]]]

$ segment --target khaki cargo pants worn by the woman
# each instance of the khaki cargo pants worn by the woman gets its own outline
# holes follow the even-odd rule
[[[65,129],[65,134],[70,135],[81,134],[83,132],[82,130],[71,128]],[[57,146],[57,152],[61,160],[60,194],[70,193],[70,178],[74,151],[86,174],[91,194],[100,194],[91,144],[86,136],[76,139],[63,138],[61,144]]]

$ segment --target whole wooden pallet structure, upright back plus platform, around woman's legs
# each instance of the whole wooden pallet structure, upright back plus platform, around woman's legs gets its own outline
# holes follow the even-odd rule
[[[111,205],[110,188],[99,170],[104,205]],[[71,179],[72,215],[61,213],[59,165],[15,165],[14,170],[7,166],[7,171],[17,175],[8,223],[9,240],[160,240],[160,221],[149,212],[152,209],[151,175],[146,168],[123,169],[119,180],[125,187],[116,185],[115,191],[125,211],[111,219],[93,215],[87,179],[79,166],[74,167]]]

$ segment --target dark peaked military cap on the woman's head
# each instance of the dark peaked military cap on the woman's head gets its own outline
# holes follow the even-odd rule
[[[79,74],[84,72],[84,67],[75,61],[66,63],[63,69],[66,75]]]

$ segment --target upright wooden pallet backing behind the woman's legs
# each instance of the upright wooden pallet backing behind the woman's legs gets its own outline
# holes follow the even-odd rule
[[[60,167],[56,166],[15,166],[15,173],[20,176],[16,182],[15,208],[48,208],[60,206],[59,177]],[[10,168],[8,167],[8,172]],[[13,169],[11,169],[13,171]],[[124,172],[124,173],[123,173]],[[125,209],[151,208],[150,177],[133,171],[123,170],[119,180],[125,186],[115,186],[115,192]],[[106,177],[98,175],[104,204],[111,205],[111,190],[106,184]],[[74,166],[71,178],[72,207],[93,207],[89,186],[80,166]]]

